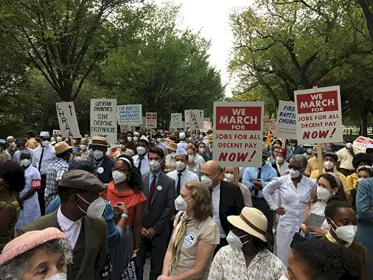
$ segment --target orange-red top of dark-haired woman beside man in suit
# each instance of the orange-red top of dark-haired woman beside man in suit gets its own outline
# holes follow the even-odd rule
[[[135,217],[135,207],[147,200],[141,190],[139,190],[138,192],[135,192],[133,190],[119,192],[118,190],[115,190],[114,181],[111,181],[108,184],[108,189],[103,195],[103,198],[105,198],[105,200],[108,200],[112,207],[115,207],[115,204],[118,202],[124,202],[126,204],[127,209],[129,209],[129,218],[127,219],[126,225],[132,225],[132,220]],[[115,223],[117,223],[119,219],[120,214],[115,217]]]

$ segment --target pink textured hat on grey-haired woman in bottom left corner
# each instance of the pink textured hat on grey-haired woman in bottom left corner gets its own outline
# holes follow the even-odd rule
[[[66,237],[58,228],[46,228],[45,230],[25,232],[23,235],[16,237],[6,244],[0,255],[0,265],[54,239],[66,239]]]

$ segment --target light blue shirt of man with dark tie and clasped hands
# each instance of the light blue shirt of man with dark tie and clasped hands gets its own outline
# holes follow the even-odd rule
[[[270,181],[277,177],[277,171],[275,168],[270,167],[269,165],[263,165],[261,168],[262,171],[260,181],[262,183],[262,188],[265,188]],[[244,183],[244,186],[249,188],[252,197],[263,198],[263,193],[261,190],[258,190],[258,195],[255,195],[255,190],[252,189],[254,184],[250,182],[250,180],[258,180],[258,174],[258,167],[247,167],[244,170],[244,175],[242,176],[242,183]]]

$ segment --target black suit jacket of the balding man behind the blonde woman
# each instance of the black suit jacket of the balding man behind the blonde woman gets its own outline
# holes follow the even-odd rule
[[[220,181],[220,204],[219,216],[221,226],[223,227],[226,235],[233,229],[233,225],[228,222],[227,217],[231,215],[240,215],[244,208],[244,197],[240,187],[227,181]]]

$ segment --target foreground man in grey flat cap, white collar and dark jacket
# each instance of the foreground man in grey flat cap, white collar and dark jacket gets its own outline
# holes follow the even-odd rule
[[[73,264],[67,267],[67,279],[104,278],[101,269],[108,255],[108,230],[101,217],[105,202],[98,195],[103,190],[103,183],[94,174],[82,170],[66,172],[58,185],[61,207],[20,228],[17,235],[58,228],[73,248]]]

